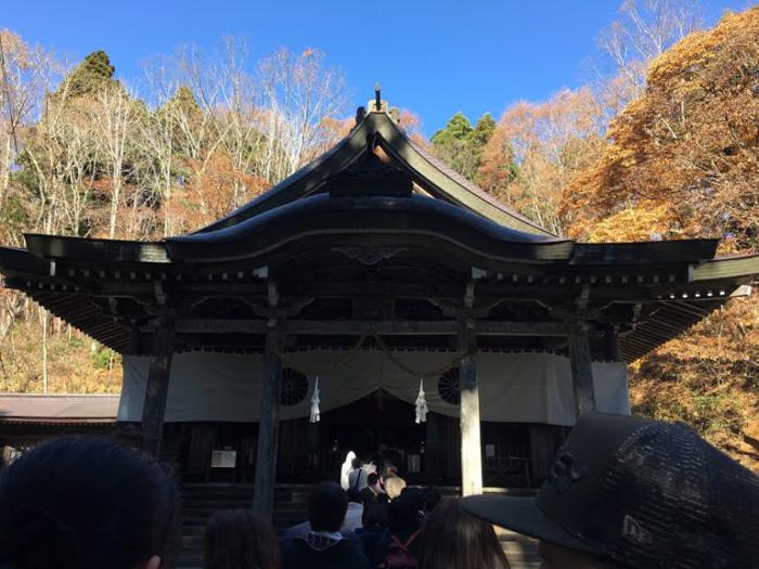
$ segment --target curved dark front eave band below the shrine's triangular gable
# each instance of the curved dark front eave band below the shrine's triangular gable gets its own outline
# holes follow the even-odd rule
[[[171,259],[253,257],[309,235],[350,233],[428,234],[501,259],[568,259],[574,243],[500,225],[468,209],[420,195],[316,194],[232,225],[166,240]]]

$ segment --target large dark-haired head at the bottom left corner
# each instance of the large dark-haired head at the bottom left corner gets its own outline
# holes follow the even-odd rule
[[[48,441],[0,473],[0,566],[172,567],[179,525],[173,480],[108,439]]]

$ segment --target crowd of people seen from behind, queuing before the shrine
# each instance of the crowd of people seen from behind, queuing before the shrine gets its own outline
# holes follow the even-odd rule
[[[494,526],[539,540],[544,569],[759,568],[759,477],[680,425],[582,416],[531,497],[441,497],[365,466],[316,486],[281,538],[250,510],[215,514],[205,568],[509,568]],[[176,567],[180,522],[173,479],[105,439],[0,471],[1,569]]]

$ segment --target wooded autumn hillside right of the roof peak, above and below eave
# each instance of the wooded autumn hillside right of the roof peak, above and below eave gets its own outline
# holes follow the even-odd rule
[[[685,34],[674,23],[687,18],[672,3],[654,4],[665,10],[628,2],[602,36],[617,64],[605,80],[512,105],[485,142],[460,116],[433,142],[462,173],[558,234],[719,237],[723,254],[756,253],[759,8]],[[638,57],[620,55],[636,49]],[[465,145],[468,161],[455,154]],[[756,295],[635,362],[631,393],[634,412],[686,422],[759,469]]]

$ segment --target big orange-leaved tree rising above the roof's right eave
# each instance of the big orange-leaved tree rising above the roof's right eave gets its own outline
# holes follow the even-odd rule
[[[652,233],[726,237],[726,250],[752,249],[758,65],[759,8],[728,14],[654,60],[644,95],[612,122],[601,158],[564,190],[569,234],[589,238],[622,210],[658,209]]]

